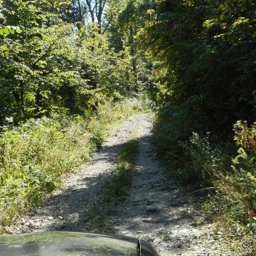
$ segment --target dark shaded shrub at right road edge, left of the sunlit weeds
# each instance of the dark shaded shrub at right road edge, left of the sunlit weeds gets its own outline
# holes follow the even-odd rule
[[[178,180],[202,188],[212,185],[212,178],[219,172],[220,151],[210,144],[210,133],[205,136],[193,122],[191,104],[186,108],[166,107],[157,114],[154,132],[160,152],[170,161],[170,172]],[[202,118],[203,117],[197,117]]]

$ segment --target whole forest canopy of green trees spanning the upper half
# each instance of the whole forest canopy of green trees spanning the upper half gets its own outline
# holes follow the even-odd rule
[[[220,137],[255,117],[254,1],[2,0],[0,18],[2,121],[138,90]]]

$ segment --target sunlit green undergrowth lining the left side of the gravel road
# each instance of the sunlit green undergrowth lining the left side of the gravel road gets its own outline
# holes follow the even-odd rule
[[[53,115],[0,136],[0,233],[41,205],[61,184],[62,173],[90,159],[110,128],[144,111],[137,100],[106,103],[85,117]]]

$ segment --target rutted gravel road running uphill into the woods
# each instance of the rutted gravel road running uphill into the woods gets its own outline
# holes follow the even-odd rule
[[[139,134],[137,173],[127,196],[104,202],[104,184],[115,170],[117,154],[130,133]],[[136,236],[152,242],[161,256],[228,255],[222,252],[210,224],[202,222],[184,194],[155,157],[152,117],[130,117],[115,128],[91,162],[63,177],[43,207],[22,218],[9,233],[32,231],[94,231]]]

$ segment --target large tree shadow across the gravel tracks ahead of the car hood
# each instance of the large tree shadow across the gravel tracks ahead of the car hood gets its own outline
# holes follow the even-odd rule
[[[139,138],[138,172],[133,177],[131,188],[126,188],[127,197],[113,198],[108,204],[104,202],[104,185],[112,178],[116,157],[123,144],[104,146],[83,169],[86,173],[91,167],[105,168],[103,173],[78,179],[74,186],[52,196],[44,208],[38,210],[37,215],[42,216],[51,212],[48,218],[53,220],[47,229],[112,234],[123,230],[123,233],[140,234],[144,228],[155,231],[159,227],[160,230],[190,218],[186,210],[176,212],[177,207],[186,207],[187,202],[179,199],[180,191],[173,182],[163,178],[164,173],[153,156],[150,141],[151,134]],[[110,166],[106,168],[107,165]]]

